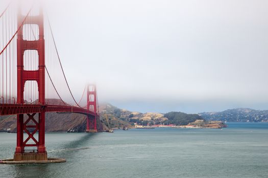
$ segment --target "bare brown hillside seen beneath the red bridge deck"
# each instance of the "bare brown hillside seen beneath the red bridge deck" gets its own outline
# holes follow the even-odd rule
[[[26,116],[25,116],[26,120]],[[38,121],[38,118],[36,118]],[[3,120],[0,119],[0,131],[10,132],[17,131],[17,116],[6,116]],[[100,120],[97,120],[98,131],[103,131],[103,126]],[[45,114],[45,131],[46,132],[67,132],[73,130],[75,132],[86,131],[86,116],[78,113],[59,114],[46,113]]]

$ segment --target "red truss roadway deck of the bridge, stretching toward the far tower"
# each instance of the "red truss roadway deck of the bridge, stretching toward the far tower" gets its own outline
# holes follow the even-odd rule
[[[74,112],[95,116],[93,111],[75,106],[38,105],[38,104],[0,104],[0,115],[15,115],[45,112]]]

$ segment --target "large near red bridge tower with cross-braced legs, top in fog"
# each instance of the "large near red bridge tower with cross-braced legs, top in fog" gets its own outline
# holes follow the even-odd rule
[[[23,23],[23,16],[21,12],[18,13],[17,24]],[[39,105],[42,105],[40,113],[28,113],[26,119],[23,114],[17,114],[17,146],[14,154],[14,161],[23,160],[47,160],[45,151],[45,51],[44,51],[44,23],[43,14],[40,10],[38,16],[28,16],[24,25],[36,24],[39,27],[39,39],[34,41],[23,40],[23,27],[21,27],[17,34],[17,104],[24,104],[24,87],[26,81],[34,80],[38,85]],[[36,50],[38,52],[38,70],[29,71],[24,70],[23,55],[26,50]],[[28,138],[23,139],[23,131],[28,134]],[[34,134],[38,132],[38,140]],[[29,140],[34,143],[29,144]],[[36,146],[37,153],[26,153],[25,147]]]

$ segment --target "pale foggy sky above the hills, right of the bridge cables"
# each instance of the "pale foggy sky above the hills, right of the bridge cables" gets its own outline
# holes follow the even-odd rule
[[[268,109],[268,1],[47,5],[71,88],[140,112]]]

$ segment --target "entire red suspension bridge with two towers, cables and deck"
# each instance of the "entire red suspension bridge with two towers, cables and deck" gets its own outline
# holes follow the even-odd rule
[[[60,162],[47,158],[45,113],[84,114],[86,132],[97,132],[96,87],[85,86],[81,99],[75,99],[48,17],[42,8],[23,10],[9,4],[0,12],[0,116],[17,115],[14,159],[2,163]],[[27,152],[27,147],[36,147],[36,152]]]

